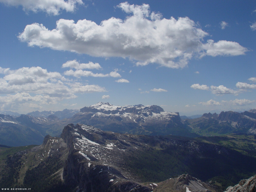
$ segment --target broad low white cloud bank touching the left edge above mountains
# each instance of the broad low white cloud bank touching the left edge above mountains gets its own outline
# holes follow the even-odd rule
[[[55,104],[63,99],[76,98],[76,93],[104,92],[98,85],[84,85],[72,80],[69,82],[57,72],[48,72],[41,67],[23,67],[16,70],[0,69],[4,74],[0,78],[1,108],[19,104],[38,106],[37,104]]]

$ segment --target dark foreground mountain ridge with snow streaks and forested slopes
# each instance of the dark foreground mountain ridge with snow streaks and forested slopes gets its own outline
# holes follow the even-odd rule
[[[61,137],[48,135],[36,147],[0,149],[1,186],[37,192],[220,192],[256,172],[255,157],[219,144],[81,124],[65,126]],[[240,183],[246,189],[255,184]]]

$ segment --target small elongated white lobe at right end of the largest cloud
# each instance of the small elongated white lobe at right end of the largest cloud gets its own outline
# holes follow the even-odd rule
[[[214,43],[213,40],[208,40],[206,44],[203,44],[202,47],[206,52],[201,54],[201,57],[205,55],[210,56],[236,56],[244,55],[247,52],[247,48],[242,47],[239,43],[233,41],[221,40],[217,43]]]

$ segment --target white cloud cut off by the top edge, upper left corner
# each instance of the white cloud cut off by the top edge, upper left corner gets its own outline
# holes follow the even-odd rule
[[[19,6],[23,7],[23,10],[38,12],[47,12],[49,15],[59,15],[61,10],[66,10],[66,12],[74,12],[76,5],[83,5],[82,0],[0,0],[0,2],[5,3],[9,6]]]

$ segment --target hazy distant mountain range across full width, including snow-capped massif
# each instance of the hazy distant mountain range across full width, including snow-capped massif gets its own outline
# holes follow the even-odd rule
[[[204,114],[181,119],[178,112],[165,112],[157,105],[115,106],[99,102],[78,110],[32,112],[12,117],[0,116],[0,144],[22,146],[41,144],[44,136],[60,136],[69,123],[91,125],[105,131],[144,135],[214,136],[230,133],[255,134],[252,112]],[[32,116],[33,115],[33,116]],[[64,119],[63,119],[64,118]]]

